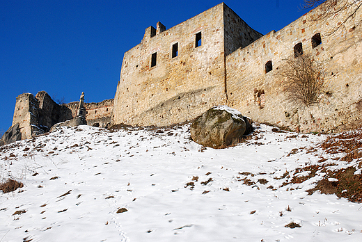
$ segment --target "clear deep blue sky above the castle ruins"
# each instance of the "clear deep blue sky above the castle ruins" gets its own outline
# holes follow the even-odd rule
[[[113,98],[125,51],[145,29],[166,29],[221,0],[0,0],[0,131],[11,126],[16,97],[45,90],[54,99]],[[302,0],[226,0],[253,29],[266,34],[306,10]]]

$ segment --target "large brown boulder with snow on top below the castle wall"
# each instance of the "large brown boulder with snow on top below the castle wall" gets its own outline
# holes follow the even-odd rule
[[[191,124],[191,138],[196,143],[220,149],[250,134],[251,120],[228,106],[216,106],[200,115]]]

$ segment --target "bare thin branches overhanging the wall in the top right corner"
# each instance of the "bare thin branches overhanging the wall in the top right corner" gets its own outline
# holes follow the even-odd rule
[[[327,33],[327,35],[331,35],[338,31],[338,29],[347,30],[346,24],[349,20],[356,17],[357,11],[362,6],[362,0],[304,0],[304,8],[314,8],[318,5],[321,5],[320,12],[312,19],[315,22],[324,22],[325,20],[334,18],[338,15],[344,15],[341,22],[338,22],[338,24]],[[349,31],[353,31],[356,26],[361,25],[361,22],[361,19],[357,20],[355,26]]]

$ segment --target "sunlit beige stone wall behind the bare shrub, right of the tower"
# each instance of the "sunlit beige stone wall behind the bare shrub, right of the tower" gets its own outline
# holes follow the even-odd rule
[[[269,122],[300,131],[342,131],[361,127],[362,45],[361,10],[346,29],[331,33],[342,22],[342,13],[325,22],[314,22],[319,8],[272,31],[244,49],[226,57],[228,105],[258,122]],[[320,33],[322,43],[312,47],[311,38]],[[331,33],[331,34],[330,34]],[[285,59],[294,58],[294,45],[301,42],[324,73],[328,93],[309,108],[288,102],[283,92]],[[272,61],[272,71],[265,64]]]

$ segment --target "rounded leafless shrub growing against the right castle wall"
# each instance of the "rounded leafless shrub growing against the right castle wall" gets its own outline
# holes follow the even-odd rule
[[[320,66],[308,54],[284,60],[278,72],[283,76],[282,87],[287,101],[295,106],[311,106],[321,101],[326,93]]]

